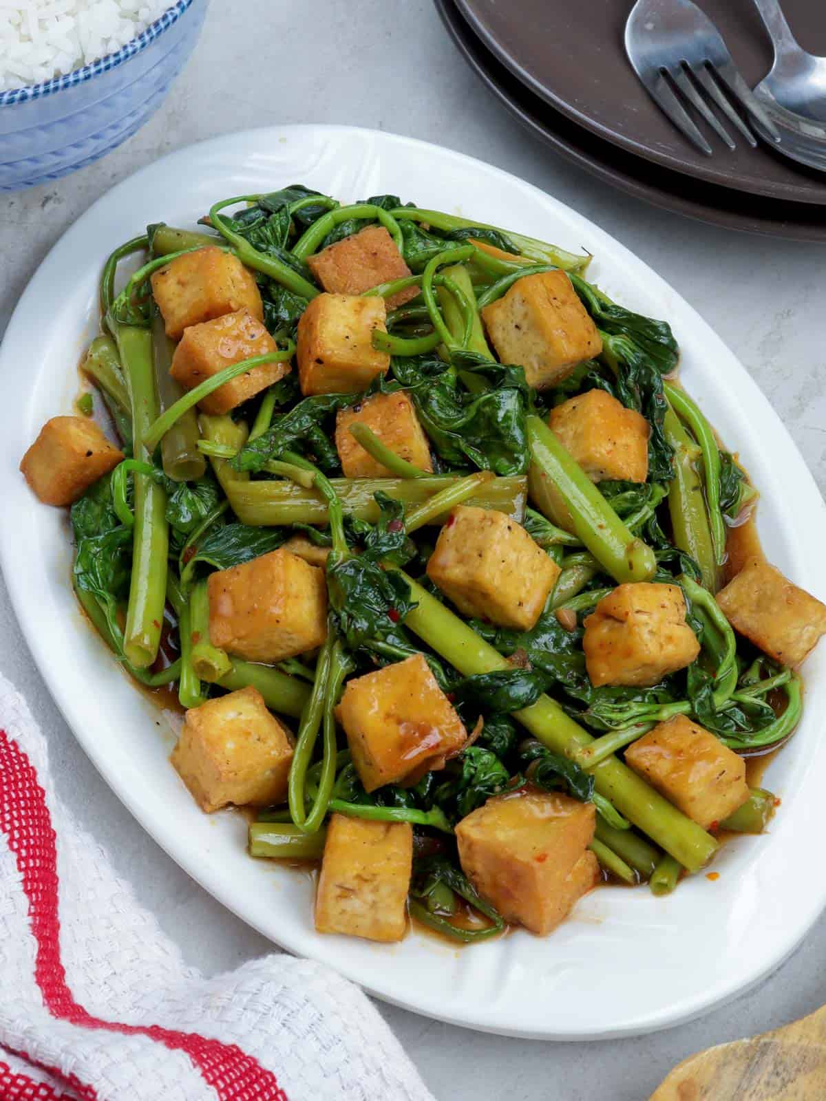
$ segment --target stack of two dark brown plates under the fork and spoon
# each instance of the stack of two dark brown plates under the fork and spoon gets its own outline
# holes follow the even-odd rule
[[[465,59],[567,160],[655,206],[752,233],[826,241],[826,173],[736,135],[706,156],[637,79],[622,33],[631,0],[435,0]],[[751,0],[704,0],[753,87],[771,44]],[[804,50],[826,54],[826,3],[784,0]]]

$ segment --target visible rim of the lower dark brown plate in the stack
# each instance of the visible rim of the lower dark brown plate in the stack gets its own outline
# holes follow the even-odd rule
[[[453,0],[435,3],[453,41],[489,90],[528,130],[566,160],[638,198],[688,218],[767,237],[826,241],[826,218],[816,206],[743,195],[692,179],[596,138],[532,95],[483,46]]]

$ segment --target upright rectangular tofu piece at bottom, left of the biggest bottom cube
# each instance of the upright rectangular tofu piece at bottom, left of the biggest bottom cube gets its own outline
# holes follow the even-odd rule
[[[407,930],[412,870],[410,822],[333,815],[315,898],[316,930],[401,940]]]

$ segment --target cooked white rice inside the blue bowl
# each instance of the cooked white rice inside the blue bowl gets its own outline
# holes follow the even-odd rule
[[[172,0],[0,0],[0,91],[40,84],[124,46]]]

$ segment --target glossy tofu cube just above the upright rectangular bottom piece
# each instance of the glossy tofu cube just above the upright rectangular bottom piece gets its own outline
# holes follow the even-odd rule
[[[421,654],[348,680],[336,713],[367,792],[444,768],[467,741]]]

